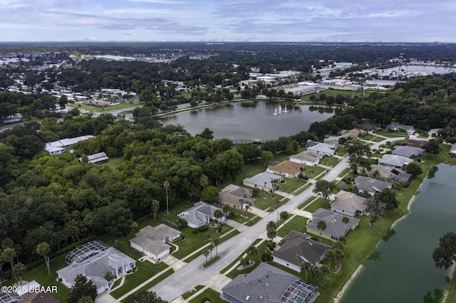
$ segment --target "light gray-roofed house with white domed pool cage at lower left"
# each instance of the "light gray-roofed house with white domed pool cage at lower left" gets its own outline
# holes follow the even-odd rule
[[[92,245],[92,243],[100,245]],[[87,248],[87,249],[86,249]],[[123,252],[116,250],[101,241],[91,241],[72,250],[66,260],[72,260],[67,266],[57,271],[62,283],[73,287],[78,275],[85,275],[97,287],[98,294],[109,289],[109,282],[105,280],[106,272],[115,277],[121,277],[132,270],[136,261]]]

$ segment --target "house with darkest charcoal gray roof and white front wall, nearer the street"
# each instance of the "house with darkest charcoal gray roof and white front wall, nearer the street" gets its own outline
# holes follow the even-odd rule
[[[282,241],[282,245],[274,252],[273,261],[286,267],[301,272],[301,263],[309,262],[312,267],[325,257],[326,250],[331,250],[331,246],[312,240],[310,235],[291,230]]]

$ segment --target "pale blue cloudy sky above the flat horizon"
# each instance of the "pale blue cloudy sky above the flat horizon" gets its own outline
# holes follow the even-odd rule
[[[0,0],[0,41],[456,42],[455,0]]]

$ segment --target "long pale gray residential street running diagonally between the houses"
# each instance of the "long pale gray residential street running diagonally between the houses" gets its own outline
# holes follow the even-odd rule
[[[393,142],[400,139],[405,138],[388,138],[382,142],[373,144],[371,148],[377,149],[380,144],[384,144],[387,141]],[[328,171],[326,175],[321,179],[324,179],[326,181],[333,181],[339,174],[341,174],[343,169],[346,169],[348,166],[348,156],[346,156],[345,158],[341,159],[341,161],[339,161],[339,163],[334,166],[331,171]],[[291,198],[291,200],[286,204],[277,208],[276,211],[279,213],[282,211],[291,213],[291,211],[294,211],[301,203],[311,198],[311,196],[314,196],[314,193],[312,193],[314,187],[315,186],[312,185],[305,191],[302,191],[294,198]],[[244,230],[242,233],[239,233],[233,238],[230,238],[229,240],[220,244],[217,247],[218,255],[220,258],[216,262],[212,263],[212,265],[209,267],[202,267],[205,262],[205,257],[204,255],[200,255],[195,260],[185,265],[185,267],[182,267],[180,270],[170,275],[170,277],[167,277],[165,280],[158,283],[149,290],[156,292],[158,296],[162,297],[162,299],[171,302],[190,289],[193,289],[195,286],[204,285],[204,281],[210,279],[212,276],[217,274],[217,272],[231,264],[237,257],[239,257],[239,255],[242,254],[242,252],[244,252],[244,250],[252,245],[254,240],[261,238],[261,234],[266,232],[266,224],[269,221],[276,221],[276,211],[269,213],[268,216],[253,225],[252,228]]]

